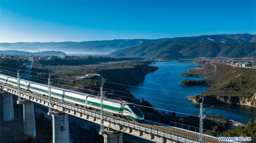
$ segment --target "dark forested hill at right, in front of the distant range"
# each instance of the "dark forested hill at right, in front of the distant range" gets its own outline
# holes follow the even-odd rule
[[[185,41],[164,40],[119,50],[111,57],[184,58],[184,57],[256,57],[256,43],[226,44],[203,42],[192,44]]]

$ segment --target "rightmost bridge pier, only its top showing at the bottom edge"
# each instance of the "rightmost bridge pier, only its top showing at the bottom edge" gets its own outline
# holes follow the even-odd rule
[[[99,134],[103,135],[104,143],[122,143],[123,142],[123,132],[106,131],[106,132],[99,132]]]

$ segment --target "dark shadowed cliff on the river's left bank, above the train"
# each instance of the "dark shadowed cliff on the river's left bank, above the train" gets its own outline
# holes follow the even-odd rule
[[[106,78],[109,82],[116,82],[121,84],[134,84],[145,79],[148,73],[156,71],[158,68],[142,64],[134,66],[133,68],[122,69],[106,69],[98,71],[97,73]]]

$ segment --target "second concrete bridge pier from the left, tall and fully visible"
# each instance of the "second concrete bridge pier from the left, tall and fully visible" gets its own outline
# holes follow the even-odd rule
[[[36,138],[34,102],[26,100],[23,104],[24,135]]]

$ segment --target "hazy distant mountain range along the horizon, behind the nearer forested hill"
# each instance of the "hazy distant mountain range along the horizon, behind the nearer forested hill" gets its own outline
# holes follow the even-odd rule
[[[0,50],[18,50],[28,52],[42,51],[62,51],[67,54],[71,53],[88,53],[88,54],[108,54],[116,50],[122,50],[130,47],[154,44],[163,40],[182,41],[192,44],[204,42],[227,43],[227,44],[244,44],[256,42],[255,34],[219,34],[219,35],[201,35],[192,37],[176,37],[161,39],[114,39],[103,41],[84,41],[84,42],[17,42],[17,43],[0,43]]]

